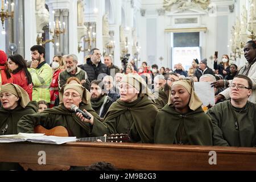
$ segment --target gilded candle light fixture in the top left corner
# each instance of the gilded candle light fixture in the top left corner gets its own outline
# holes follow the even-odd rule
[[[2,0],[2,6],[0,11],[1,22],[3,27],[2,34],[6,34],[5,27],[3,26],[3,24],[5,24],[5,19],[14,17],[14,3],[11,3],[11,12],[9,12],[9,7],[9,2],[6,1],[5,3],[4,0]]]

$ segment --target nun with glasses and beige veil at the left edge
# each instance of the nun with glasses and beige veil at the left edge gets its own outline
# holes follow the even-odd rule
[[[0,92],[0,135],[18,134],[17,123],[23,115],[38,110],[36,101],[30,101],[27,92],[19,85],[2,85]],[[18,163],[0,163],[0,171],[22,170]]]

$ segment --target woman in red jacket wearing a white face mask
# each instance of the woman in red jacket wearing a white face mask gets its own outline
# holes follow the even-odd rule
[[[50,96],[51,101],[49,107],[54,106],[54,102],[59,96],[59,74],[60,72],[65,70],[65,61],[62,56],[54,56],[52,60],[52,69],[53,69],[53,76],[52,82],[50,85]]]

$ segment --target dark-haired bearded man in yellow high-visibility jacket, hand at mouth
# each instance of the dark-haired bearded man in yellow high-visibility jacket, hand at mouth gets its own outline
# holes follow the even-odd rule
[[[30,48],[32,63],[30,74],[33,82],[32,100],[50,102],[49,86],[52,82],[52,68],[46,63],[46,49],[43,46]]]

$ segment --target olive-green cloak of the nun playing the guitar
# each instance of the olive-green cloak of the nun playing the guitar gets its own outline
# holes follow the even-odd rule
[[[93,115],[94,121],[100,119],[90,104],[81,105],[81,110],[87,110]],[[22,117],[18,122],[18,132],[34,133],[34,127],[42,125],[46,129],[52,129],[55,126],[64,126],[69,136],[78,138],[89,137],[89,123],[82,122],[76,113],[68,110],[63,104],[46,109],[42,113],[30,114]]]

